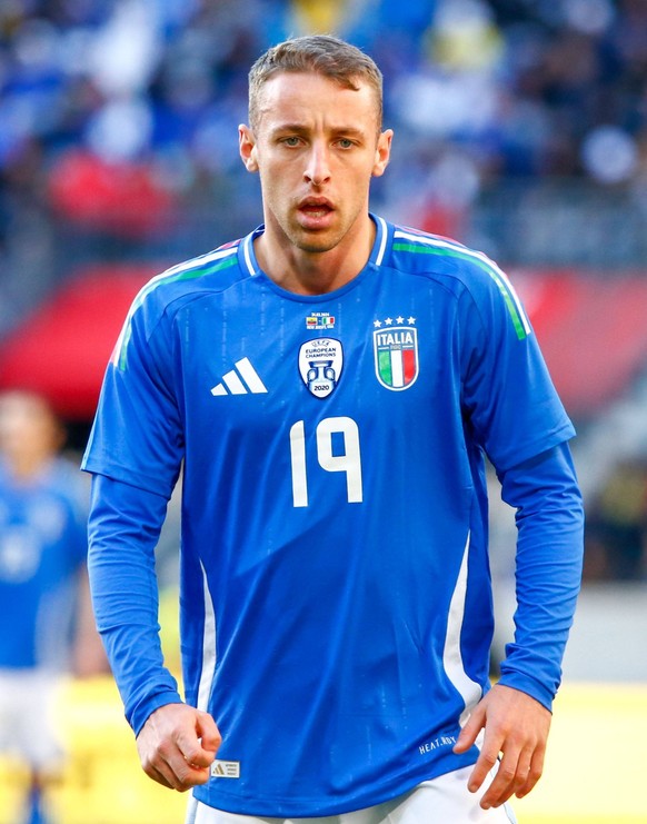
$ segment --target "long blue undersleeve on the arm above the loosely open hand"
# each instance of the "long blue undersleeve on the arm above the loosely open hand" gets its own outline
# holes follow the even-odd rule
[[[499,473],[502,498],[515,507],[517,612],[500,683],[548,709],[581,579],[584,507],[567,444]]]

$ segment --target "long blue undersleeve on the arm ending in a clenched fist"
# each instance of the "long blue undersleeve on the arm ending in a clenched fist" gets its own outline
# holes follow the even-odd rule
[[[165,497],[102,475],[92,478],[88,569],[97,627],[136,735],[165,704],[181,702],[163,665],[155,547]]]

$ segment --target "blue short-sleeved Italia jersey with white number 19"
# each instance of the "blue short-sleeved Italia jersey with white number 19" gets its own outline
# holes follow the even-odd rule
[[[505,474],[574,434],[505,275],[374,220],[326,295],[259,269],[262,227],[153,279],[102,389],[86,469],[168,497],[183,463],[186,697],[222,734],[195,794],[219,808],[331,815],[476,760],[452,746],[488,688],[484,454]],[[103,559],[109,635],[128,606]],[[122,637],[137,728],[166,676],[123,659],[141,627]],[[512,649],[506,683],[549,705],[560,654]]]

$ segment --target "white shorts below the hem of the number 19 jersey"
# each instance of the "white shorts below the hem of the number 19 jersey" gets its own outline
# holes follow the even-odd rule
[[[215,810],[191,797],[186,824],[515,824],[508,804],[487,811],[479,807],[487,787],[478,793],[468,791],[472,770],[464,767],[425,781],[409,793],[374,807],[319,818],[257,818]]]

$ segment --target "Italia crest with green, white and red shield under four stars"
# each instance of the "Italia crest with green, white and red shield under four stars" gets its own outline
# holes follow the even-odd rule
[[[398,318],[400,322],[404,318]],[[376,320],[372,334],[375,370],[378,380],[387,389],[401,391],[414,386],[419,371],[418,330],[411,326],[394,325],[391,318]]]

